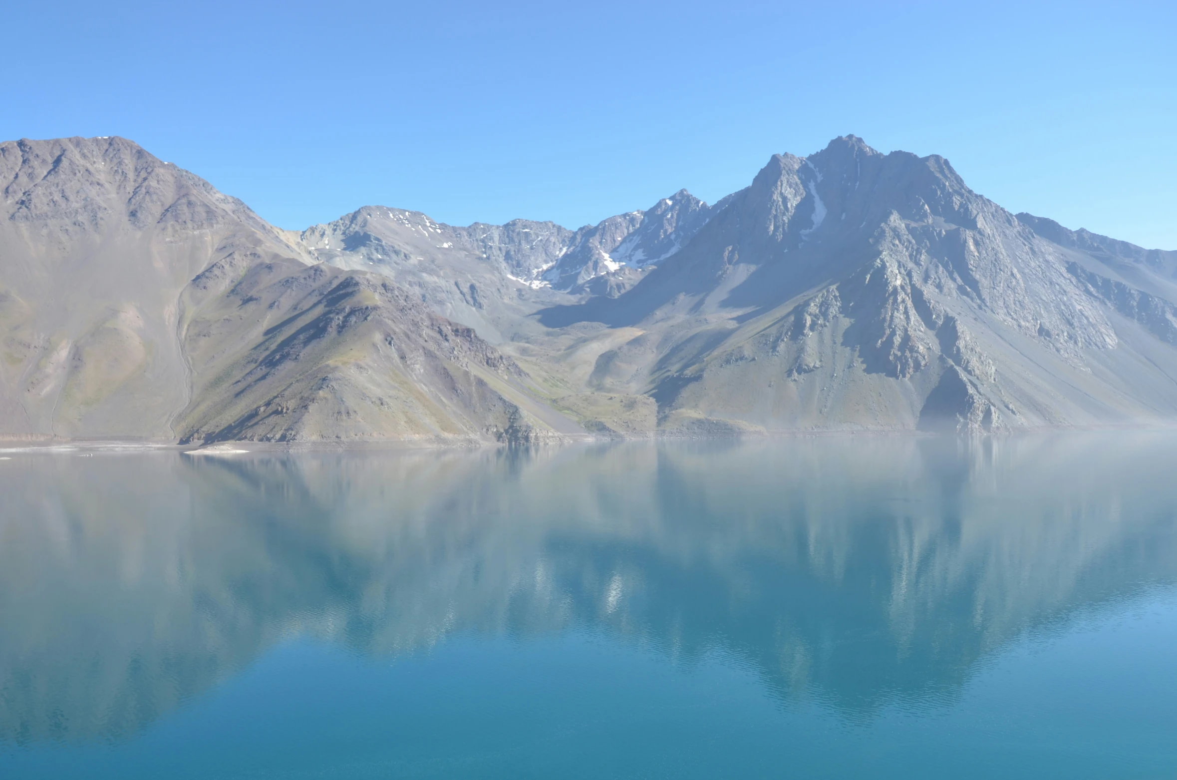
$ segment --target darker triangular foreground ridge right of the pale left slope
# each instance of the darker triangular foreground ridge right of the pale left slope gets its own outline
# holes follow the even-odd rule
[[[579,431],[540,411],[519,366],[472,329],[387,279],[267,263],[200,305],[201,280],[188,293],[194,401],[178,421],[181,443],[557,436],[520,404]]]

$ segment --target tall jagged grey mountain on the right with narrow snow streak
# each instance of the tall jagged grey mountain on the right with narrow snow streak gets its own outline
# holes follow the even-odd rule
[[[1177,415],[1171,269],[846,137],[774,156],[626,293],[540,319],[631,329],[590,384],[654,398],[661,429],[1156,423]]]

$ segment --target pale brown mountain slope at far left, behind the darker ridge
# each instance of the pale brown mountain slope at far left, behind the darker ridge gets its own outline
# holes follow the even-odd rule
[[[5,434],[169,435],[180,291],[213,260],[297,256],[240,201],[120,138],[0,145]]]

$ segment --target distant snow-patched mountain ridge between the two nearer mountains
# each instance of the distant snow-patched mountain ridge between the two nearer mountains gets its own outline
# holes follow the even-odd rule
[[[524,320],[538,308],[567,302],[557,293],[616,297],[722,207],[680,190],[649,211],[572,231],[526,219],[459,227],[415,211],[365,206],[308,227],[299,243],[315,260],[384,273],[435,312],[499,343],[520,331],[540,332]]]

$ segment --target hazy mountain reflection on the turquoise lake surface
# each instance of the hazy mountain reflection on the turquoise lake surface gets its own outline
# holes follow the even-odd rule
[[[284,639],[572,628],[851,719],[1177,575],[1177,436],[0,463],[0,741],[119,740]]]

